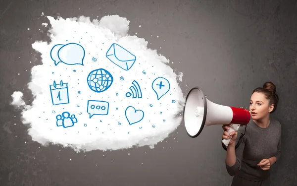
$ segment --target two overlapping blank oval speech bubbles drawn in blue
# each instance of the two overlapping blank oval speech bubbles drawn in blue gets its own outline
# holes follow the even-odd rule
[[[69,65],[84,65],[85,49],[77,43],[58,44],[50,50],[50,58],[54,61],[55,65],[60,62]]]

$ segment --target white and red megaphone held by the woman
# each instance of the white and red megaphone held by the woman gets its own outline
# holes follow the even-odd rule
[[[250,113],[247,109],[228,107],[209,101],[200,87],[192,88],[184,106],[184,123],[187,134],[195,138],[204,126],[230,124],[228,132],[237,131],[241,125],[247,125]],[[223,139],[228,146],[231,139]]]

